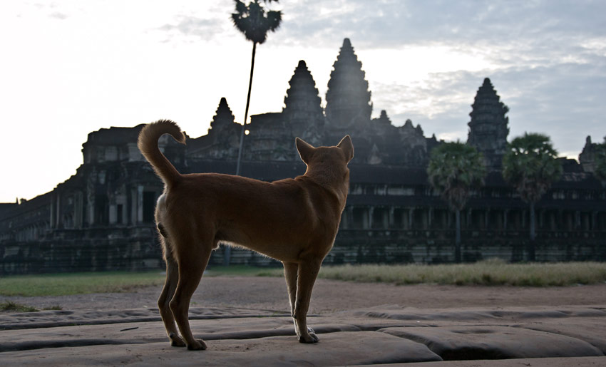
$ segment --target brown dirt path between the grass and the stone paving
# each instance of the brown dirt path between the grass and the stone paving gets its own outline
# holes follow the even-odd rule
[[[4,297],[38,308],[61,306],[75,309],[155,308],[160,286],[133,292],[79,294],[53,297]],[[438,286],[354,283],[319,279],[314,287],[311,312],[361,309],[398,304],[419,309],[450,309],[476,306],[564,306],[606,304],[606,284],[528,288],[511,286]],[[192,306],[232,306],[245,309],[289,309],[282,278],[216,276],[205,277],[192,298]]]

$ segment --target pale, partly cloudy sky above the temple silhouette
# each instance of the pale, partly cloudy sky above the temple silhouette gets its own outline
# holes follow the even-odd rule
[[[282,0],[282,26],[257,47],[250,114],[279,112],[299,60],[325,103],[350,38],[373,117],[411,119],[466,141],[491,78],[509,140],[550,136],[577,158],[606,135],[606,1]],[[207,133],[220,98],[242,123],[252,43],[230,0],[0,2],[0,202],[53,190],[82,164],[88,133],[175,120]],[[330,142],[327,142],[327,144]],[[354,142],[355,144],[355,142]]]

